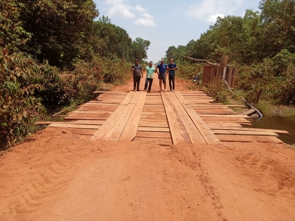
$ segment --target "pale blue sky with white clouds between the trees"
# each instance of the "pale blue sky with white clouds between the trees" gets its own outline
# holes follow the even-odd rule
[[[197,40],[217,16],[243,16],[246,9],[258,10],[260,0],[93,0],[99,16],[111,18],[134,40],[150,41],[148,61],[164,57],[169,46]]]

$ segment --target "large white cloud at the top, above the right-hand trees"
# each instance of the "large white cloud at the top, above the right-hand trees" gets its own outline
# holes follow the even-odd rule
[[[191,18],[205,19],[208,23],[215,23],[220,15],[233,14],[244,0],[203,0],[200,4],[188,8],[186,15]],[[220,16],[221,17],[221,16]]]

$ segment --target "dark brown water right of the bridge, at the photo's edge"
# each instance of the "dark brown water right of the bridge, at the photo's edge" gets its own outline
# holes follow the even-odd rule
[[[263,117],[261,120],[251,120],[251,128],[274,129],[288,131],[288,135],[279,135],[285,143],[295,143],[295,117]]]

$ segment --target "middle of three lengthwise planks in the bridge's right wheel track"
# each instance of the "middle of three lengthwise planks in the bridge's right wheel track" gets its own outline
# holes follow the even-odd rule
[[[176,94],[173,93],[172,95],[169,95],[169,96],[170,96],[170,98],[177,110],[178,116],[179,116],[191,142],[198,143],[198,144],[200,144],[200,143],[206,144],[205,139],[202,137],[199,130],[195,126],[194,122],[189,117],[189,115],[187,115],[187,112],[184,110],[183,106],[180,104],[179,100],[177,99]]]

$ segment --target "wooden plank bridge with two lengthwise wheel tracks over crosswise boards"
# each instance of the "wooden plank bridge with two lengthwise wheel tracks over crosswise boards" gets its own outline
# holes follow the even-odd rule
[[[286,131],[243,128],[251,125],[237,106],[213,103],[202,91],[186,92],[99,92],[96,100],[72,111],[65,120],[49,127],[75,128],[93,141],[160,139],[171,145],[180,142],[220,144],[232,142],[282,143],[278,134]],[[41,124],[41,123],[40,123]]]

